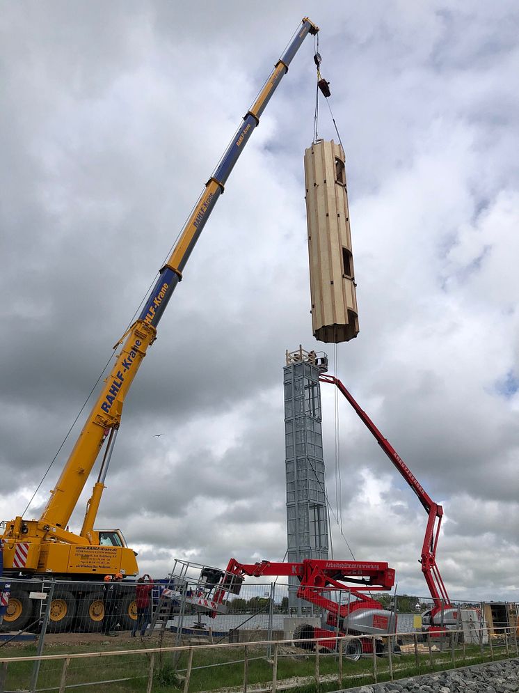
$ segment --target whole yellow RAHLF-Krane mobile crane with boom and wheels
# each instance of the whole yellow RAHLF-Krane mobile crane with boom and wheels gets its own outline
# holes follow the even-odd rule
[[[266,80],[262,91],[243,118],[237,133],[227,147],[221,163],[205,185],[191,217],[186,222],[175,249],[159,272],[159,279],[147,297],[143,311],[115,345],[122,348],[115,357],[115,364],[104,387],[99,394],[83,430],[68,458],[58,483],[51,491],[51,497],[39,520],[26,520],[15,517],[5,523],[1,535],[3,545],[4,573],[10,576],[27,577],[26,582],[13,584],[8,612],[4,623],[10,628],[23,628],[32,616],[35,603],[30,598],[31,577],[52,575],[57,579],[74,579],[77,587],[67,582],[66,590],[55,591],[55,601],[51,609],[51,630],[63,630],[72,626],[81,599],[81,616],[90,617],[89,630],[100,626],[99,587],[105,575],[121,573],[135,576],[138,573],[136,554],[127,547],[125,538],[119,530],[99,531],[94,529],[95,518],[104,490],[115,438],[120,425],[122,405],[131,382],[146,355],[147,348],[157,336],[157,325],[177,284],[191,251],[195,247],[202,228],[204,228],[216,201],[223,194],[234,164],[246,145],[254,128],[259,124],[266,104],[269,102],[283,75],[288,71],[305,37],[317,34],[319,27],[308,17],[303,19],[294,38],[284,54],[276,63]],[[86,506],[83,526],[79,534],[67,529],[70,517],[95,465],[97,457],[105,446],[104,457],[97,482]],[[89,587],[80,580],[93,581]],[[133,600],[129,597],[122,609],[126,625],[135,618]]]

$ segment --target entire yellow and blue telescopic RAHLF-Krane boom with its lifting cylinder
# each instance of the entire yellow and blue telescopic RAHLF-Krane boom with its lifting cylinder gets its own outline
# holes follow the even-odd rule
[[[114,442],[114,437],[110,434],[119,428],[122,405],[127,391],[146,355],[147,348],[155,339],[157,325],[162,313],[166,309],[175,287],[182,279],[182,272],[187,260],[200,237],[209,215],[216,205],[216,201],[223,194],[225,182],[234,164],[236,164],[253,130],[259,124],[259,117],[262,115],[266,104],[268,104],[283,75],[288,71],[289,64],[303,40],[308,36],[308,33],[316,34],[318,31],[319,27],[310,22],[308,17],[303,19],[299,31],[276,63],[256,101],[250,107],[246,116],[244,116],[243,123],[241,123],[234,139],[228,146],[216,171],[207,181],[191,217],[182,229],[173,253],[160,270],[159,279],[149,297],[147,297],[141,315],[134,322],[134,325],[131,325],[127,334],[115,345],[115,348],[118,348],[122,344],[122,349],[115,358],[115,365],[111,374],[105,380],[101,394],[99,394],[88,416],[88,420],[79,435],[79,439],[70,454],[70,458],[63,469],[58,483],[54,490],[51,491],[51,497],[38,522],[37,532],[40,538],[52,532],[51,536],[53,538],[69,543],[93,542],[93,522],[95,521],[102,490],[104,489],[106,467],[109,463],[111,446],[113,446]],[[88,475],[95,465],[106,437],[109,437],[107,454],[104,456],[102,469],[99,472],[99,478],[88,504],[81,536],[78,537],[67,532],[65,527],[70,520],[70,516],[86,484]],[[8,536],[10,540],[18,537],[23,537],[24,540],[27,540],[29,536],[33,535],[33,529],[30,530],[30,535],[28,531],[27,525],[22,522],[22,518],[17,517],[9,525]]]

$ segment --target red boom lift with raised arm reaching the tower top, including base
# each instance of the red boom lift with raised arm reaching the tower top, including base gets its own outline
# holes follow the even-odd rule
[[[339,378],[333,375],[320,375],[321,382],[329,382],[337,386],[337,389],[349,401],[353,410],[358,414],[361,421],[367,429],[372,433],[376,442],[381,446],[393,465],[397,467],[400,474],[404,477],[410,487],[417,495],[420,503],[424,507],[425,512],[429,515],[427,527],[425,531],[424,543],[422,545],[422,573],[429,587],[429,592],[433,598],[433,608],[422,614],[422,628],[429,632],[441,632],[442,628],[454,626],[458,623],[458,608],[454,607],[447,595],[445,584],[443,584],[440,571],[436,565],[436,547],[438,546],[438,536],[440,534],[440,525],[442,522],[443,508],[435,503],[426,493],[422,485],[417,481],[414,474],[410,471],[404,460],[400,457],[392,444],[383,437],[382,433],[376,428],[373,421],[363,411],[353,396],[344,387],[344,384]]]

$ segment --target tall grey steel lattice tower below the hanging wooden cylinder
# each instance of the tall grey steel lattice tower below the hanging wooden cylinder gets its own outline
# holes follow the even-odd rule
[[[287,478],[287,559],[328,558],[328,513],[324,486],[321,387],[326,355],[287,351],[285,384],[285,467]],[[301,613],[297,578],[289,579],[289,608]]]

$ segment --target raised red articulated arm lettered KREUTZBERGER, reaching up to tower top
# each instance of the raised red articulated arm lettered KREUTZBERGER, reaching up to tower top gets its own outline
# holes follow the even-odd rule
[[[429,515],[424,543],[422,545],[422,556],[420,563],[422,563],[422,573],[424,574],[425,581],[429,587],[429,592],[431,593],[435,606],[441,607],[442,604],[445,606],[445,603],[447,602],[448,604],[450,600],[449,596],[447,595],[447,590],[445,589],[445,584],[443,584],[440,571],[438,570],[438,566],[436,566],[436,547],[438,546],[438,537],[440,535],[440,525],[442,523],[443,516],[442,506],[431,500],[429,495],[426,493],[422,485],[417,481],[417,478],[410,471],[409,467],[406,465],[404,460],[402,460],[392,444],[382,435],[380,430],[376,428],[373,421],[369,418],[366,412],[360,408],[356,400],[349,393],[346,387],[344,387],[344,384],[339,380],[339,378],[334,377],[333,375],[320,375],[319,380],[321,380],[321,382],[334,384],[344,395],[346,400],[349,401],[362,423],[364,423],[366,428],[370,431],[370,433],[372,433],[376,439],[376,442],[381,446],[385,454],[388,455],[388,458],[390,458],[393,465],[398,469],[401,476],[404,477],[408,485],[410,485],[410,487],[413,489],[427,515]]]

